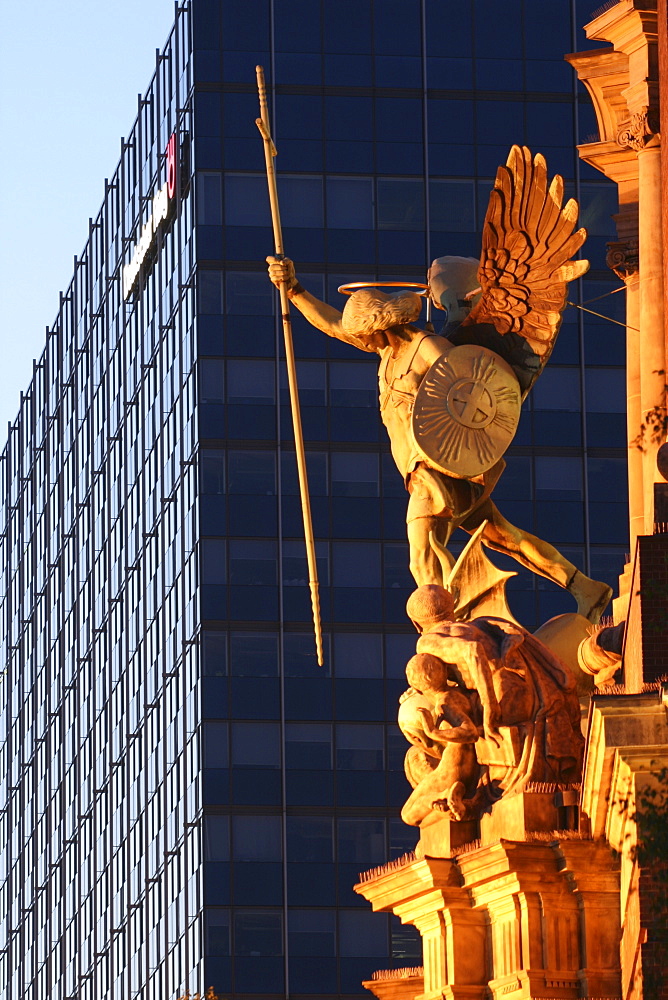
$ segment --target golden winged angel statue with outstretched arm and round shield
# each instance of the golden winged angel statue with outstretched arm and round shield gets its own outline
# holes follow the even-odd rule
[[[271,280],[287,283],[313,326],[380,357],[381,417],[410,495],[410,568],[418,586],[443,584],[456,528],[482,528],[485,545],[564,587],[596,622],[611,589],[507,521],[491,499],[521,401],[554,347],[568,282],[589,266],[572,259],[586,236],[575,230],[577,203],[562,203],[561,177],[548,185],[545,159],[513,146],[491,192],[479,264],[441,257],[429,270],[429,295],[447,310],[441,335],[414,325],[419,295],[366,287],[341,313],[302,287],[292,261],[267,260]]]

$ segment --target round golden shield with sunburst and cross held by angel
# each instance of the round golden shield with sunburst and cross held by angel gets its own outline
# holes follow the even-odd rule
[[[413,405],[413,437],[433,468],[471,479],[498,462],[515,436],[522,397],[515,374],[486,347],[462,344],[438,358]]]

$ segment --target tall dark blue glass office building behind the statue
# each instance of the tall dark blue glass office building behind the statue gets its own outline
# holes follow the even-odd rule
[[[315,294],[477,256],[496,166],[525,142],[581,200],[585,301],[619,284],[614,189],[578,161],[593,117],[562,58],[589,14],[177,4],[2,456],[0,1000],[351,998],[420,964],[411,929],[351,889],[416,840],[394,721],[406,495],[375,359],[295,316],[317,667],[255,64],[285,244]],[[620,319],[621,299],[593,308]],[[584,316],[566,311],[495,497],[614,582],[624,333]],[[527,573],[510,603],[528,627],[574,610]]]

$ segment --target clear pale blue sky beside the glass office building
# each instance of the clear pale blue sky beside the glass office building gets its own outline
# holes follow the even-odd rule
[[[0,15],[1,449],[174,4],[2,0]]]

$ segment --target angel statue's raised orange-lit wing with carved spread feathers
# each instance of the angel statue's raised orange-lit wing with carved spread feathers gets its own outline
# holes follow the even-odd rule
[[[517,334],[543,363],[556,339],[568,282],[589,268],[589,261],[573,260],[587,234],[575,228],[577,202],[571,198],[563,205],[563,197],[558,174],[548,184],[545,157],[513,146],[497,171],[485,216],[482,296],[462,323],[491,323],[501,335]]]

